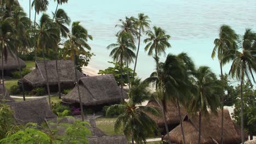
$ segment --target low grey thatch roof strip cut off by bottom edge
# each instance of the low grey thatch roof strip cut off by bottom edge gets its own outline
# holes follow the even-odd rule
[[[127,139],[124,135],[89,137],[89,144],[126,144]]]

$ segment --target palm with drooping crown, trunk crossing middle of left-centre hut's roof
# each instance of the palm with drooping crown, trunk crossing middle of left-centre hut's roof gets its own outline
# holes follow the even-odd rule
[[[38,25],[38,32],[36,35],[37,39],[37,45],[36,45],[36,51],[42,50],[43,53],[43,61],[44,61],[44,70],[46,75],[46,87],[49,97],[49,103],[51,104],[50,99],[50,87],[49,87],[49,80],[48,80],[48,72],[46,68],[46,62],[45,62],[45,56],[44,56],[44,50],[49,47],[57,47],[57,43],[59,42],[59,28],[56,27],[56,24],[51,22],[49,15],[43,14],[40,18],[40,23]]]

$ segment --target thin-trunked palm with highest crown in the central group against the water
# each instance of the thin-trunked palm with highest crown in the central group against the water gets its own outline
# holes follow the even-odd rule
[[[147,15],[144,15],[143,13],[139,13],[138,14],[138,19],[135,22],[135,25],[139,29],[139,33],[138,33],[138,49],[137,49],[135,65],[134,65],[133,75],[132,75],[133,78],[135,76],[135,70],[136,70],[137,59],[138,59],[138,52],[139,52],[139,45],[141,44],[141,33],[145,32],[145,28],[149,28],[150,20],[148,20],[148,19],[149,19],[149,17]]]

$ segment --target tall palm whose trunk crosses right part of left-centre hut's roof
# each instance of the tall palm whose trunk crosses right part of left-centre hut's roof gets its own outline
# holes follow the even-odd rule
[[[67,38],[67,34],[69,33],[69,29],[66,25],[69,25],[71,20],[68,17],[67,13],[63,9],[58,9],[55,11],[55,22],[57,26],[60,28],[61,36],[63,38]],[[53,19],[54,20],[54,19]],[[56,47],[56,72],[57,72],[57,80],[58,80],[58,88],[59,88],[59,99],[61,99],[61,84],[60,84],[60,76],[58,73],[58,56],[59,56],[59,47]]]

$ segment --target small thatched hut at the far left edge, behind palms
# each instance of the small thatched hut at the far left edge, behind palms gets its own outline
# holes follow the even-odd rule
[[[19,58],[21,68],[26,67],[26,63]],[[4,76],[11,76],[11,71],[19,70],[19,64],[13,51],[8,51],[7,61],[3,62]],[[0,74],[2,77],[2,58],[0,58]]]

